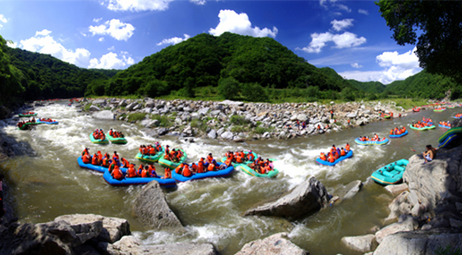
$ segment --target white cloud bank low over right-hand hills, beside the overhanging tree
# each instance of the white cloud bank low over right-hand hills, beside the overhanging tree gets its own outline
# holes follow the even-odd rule
[[[348,79],[359,81],[380,81],[383,84],[391,83],[395,80],[403,80],[420,71],[419,61],[415,55],[414,48],[403,54],[398,52],[383,52],[376,57],[380,67],[384,67],[382,71],[347,71],[339,73]],[[352,64],[353,66],[353,64]]]

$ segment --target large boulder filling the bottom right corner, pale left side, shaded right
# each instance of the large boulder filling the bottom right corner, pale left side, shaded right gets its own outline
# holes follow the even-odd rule
[[[456,254],[442,252],[447,247],[452,251],[462,249],[462,233],[451,229],[398,232],[383,238],[374,255]]]

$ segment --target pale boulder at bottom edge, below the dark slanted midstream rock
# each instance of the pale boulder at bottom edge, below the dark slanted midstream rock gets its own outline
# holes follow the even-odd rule
[[[308,251],[298,247],[288,240],[287,233],[276,233],[265,239],[259,239],[246,243],[235,255],[305,255],[310,254]]]

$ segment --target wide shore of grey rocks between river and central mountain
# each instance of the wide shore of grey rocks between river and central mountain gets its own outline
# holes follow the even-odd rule
[[[83,99],[75,106],[90,112],[93,118],[139,122],[152,136],[177,135],[236,142],[337,132],[380,120],[380,113],[393,112],[398,116],[405,111],[395,103],[381,102],[323,105],[317,102],[270,104],[151,98]],[[136,120],[132,118],[134,115],[138,115]]]

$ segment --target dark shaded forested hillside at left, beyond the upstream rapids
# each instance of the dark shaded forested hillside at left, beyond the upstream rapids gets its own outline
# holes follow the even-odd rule
[[[88,84],[108,79],[118,70],[97,70],[76,67],[50,55],[6,47],[12,66],[21,71],[24,99],[67,98],[83,96]]]

